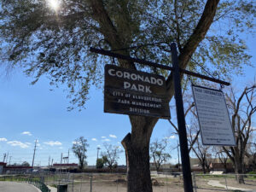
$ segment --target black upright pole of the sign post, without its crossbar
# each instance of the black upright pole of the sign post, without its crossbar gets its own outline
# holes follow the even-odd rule
[[[189,148],[188,148],[188,139],[186,131],[186,123],[183,109],[183,95],[181,89],[181,80],[177,60],[177,48],[176,44],[171,44],[172,51],[172,67],[173,71],[173,80],[174,80],[174,89],[175,89],[175,102],[176,102],[176,112],[177,112],[177,125],[178,125],[178,137],[180,141],[180,151],[182,157],[182,167],[183,167],[183,186],[185,192],[193,192],[193,184],[191,177],[191,169],[189,162]]]

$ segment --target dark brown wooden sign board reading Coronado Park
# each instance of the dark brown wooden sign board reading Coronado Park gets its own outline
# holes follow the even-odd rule
[[[166,79],[160,75],[106,65],[104,112],[170,119]]]

